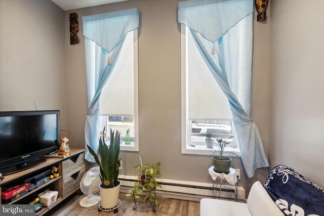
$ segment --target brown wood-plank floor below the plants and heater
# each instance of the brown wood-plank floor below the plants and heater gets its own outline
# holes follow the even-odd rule
[[[45,216],[96,216],[96,215],[114,215],[114,216],[146,216],[146,215],[181,215],[181,216],[199,216],[199,202],[192,202],[178,199],[159,198],[156,211],[152,210],[152,202],[143,202],[143,199],[136,199],[137,208],[134,210],[133,198],[126,198],[125,193],[120,193],[120,205],[118,212],[98,211],[98,204],[93,209],[83,208],[79,205],[81,192],[76,192],[67,198],[64,203],[50,210]]]

